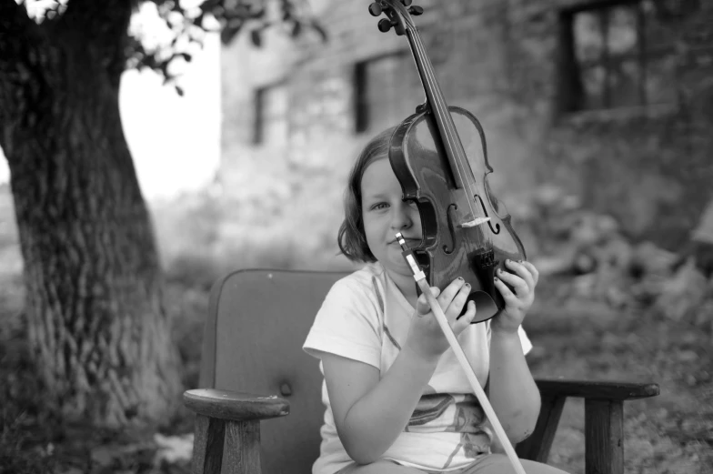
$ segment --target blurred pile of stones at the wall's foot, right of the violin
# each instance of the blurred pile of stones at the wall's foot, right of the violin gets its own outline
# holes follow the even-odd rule
[[[531,259],[541,274],[567,282],[568,298],[648,308],[713,332],[713,204],[678,253],[632,242],[614,217],[555,187],[538,189],[527,211],[517,227],[537,244]]]

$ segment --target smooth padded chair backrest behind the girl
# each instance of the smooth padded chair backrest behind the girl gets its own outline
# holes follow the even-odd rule
[[[341,272],[239,270],[211,290],[200,388],[278,395],[290,414],[261,422],[265,474],[309,473],[324,420],[322,374],[302,350],[317,310]]]

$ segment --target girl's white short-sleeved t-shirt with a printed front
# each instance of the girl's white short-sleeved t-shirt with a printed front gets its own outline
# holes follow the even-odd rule
[[[326,295],[307,335],[304,349],[316,358],[329,352],[367,363],[384,374],[407,338],[415,309],[379,263],[368,264],[338,280]],[[532,348],[519,329],[523,351]],[[458,335],[480,384],[485,387],[489,366],[489,322],[474,324]],[[323,370],[322,363],[319,364]],[[324,373],[324,370],[323,370]],[[352,462],[336,433],[326,383],[326,406],[320,430],[322,444],[313,474],[333,474]],[[407,427],[383,458],[427,470],[458,469],[490,452],[492,434],[483,408],[472,393],[456,355],[448,348]]]

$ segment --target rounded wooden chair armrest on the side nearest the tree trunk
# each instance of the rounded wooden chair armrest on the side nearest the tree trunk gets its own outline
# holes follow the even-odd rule
[[[289,414],[289,402],[275,395],[265,397],[230,390],[196,388],[184,392],[183,402],[198,415],[213,419],[246,421]]]

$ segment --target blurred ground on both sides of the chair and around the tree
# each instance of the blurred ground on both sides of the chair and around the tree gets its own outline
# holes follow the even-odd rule
[[[556,282],[552,283],[553,285]],[[17,278],[0,285],[0,473],[187,473],[192,419],[182,412],[163,427],[104,432],[59,423],[43,409],[42,388],[27,357],[22,289]],[[561,295],[559,291],[557,294]],[[535,348],[536,377],[658,383],[656,398],[624,408],[626,472],[713,472],[711,334],[644,311],[615,311],[595,301],[540,291],[525,328]],[[205,289],[167,288],[174,337],[195,387]],[[549,463],[584,472],[584,407],[570,399]]]

